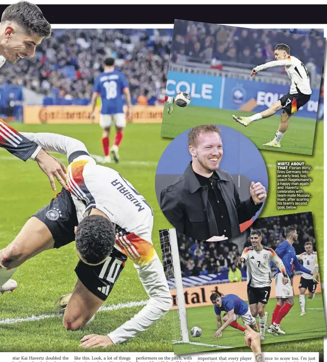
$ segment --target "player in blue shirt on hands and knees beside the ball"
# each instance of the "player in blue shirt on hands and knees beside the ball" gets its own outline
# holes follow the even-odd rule
[[[227,294],[226,296],[220,297],[218,293],[212,293],[210,300],[214,305],[214,312],[217,315],[218,327],[217,332],[215,332],[212,337],[222,337],[222,331],[236,322],[239,317],[241,317],[243,323],[249,325],[254,331],[259,331],[256,320],[251,314],[250,307],[235,294]],[[223,317],[224,325],[222,325],[220,317],[222,311],[228,313]],[[232,325],[232,327],[237,328],[235,324],[234,326]]]

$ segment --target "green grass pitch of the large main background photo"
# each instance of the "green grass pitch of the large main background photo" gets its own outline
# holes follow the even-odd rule
[[[175,111],[174,111],[175,112]],[[33,125],[15,124],[19,131],[54,132],[83,141],[91,154],[102,154],[101,130],[98,125]],[[262,151],[268,165],[268,200],[261,216],[291,212],[313,211],[315,231],[320,252],[320,266],[323,262],[323,122],[317,125],[314,157],[273,151]],[[171,139],[160,137],[161,124],[128,124],[120,147],[121,163],[111,167],[119,171],[122,177],[130,181],[141,192],[153,208],[154,226],[152,240],[157,253],[161,255],[158,230],[171,225],[160,211],[155,197],[154,177],[157,162]],[[111,137],[113,139],[113,135]],[[60,159],[65,160],[63,156]],[[296,211],[276,210],[276,161],[305,161],[314,169],[310,173],[313,183],[307,187],[312,199],[307,207],[298,207]],[[66,160],[65,160],[66,162]],[[18,234],[30,215],[47,205],[55,195],[46,176],[36,163],[26,163],[0,150],[0,248],[6,246]],[[58,185],[58,184],[57,184]],[[59,186],[58,186],[59,190]],[[106,307],[119,303],[120,309],[100,311],[84,331],[67,332],[62,327],[59,316],[51,317],[54,302],[70,292],[75,284],[74,268],[78,258],[74,244],[58,250],[41,253],[30,259],[14,274],[18,288],[13,293],[0,295],[0,352],[18,351],[84,351],[79,348],[79,340],[85,334],[107,334],[130,319],[142,306],[126,307],[127,302],[145,301],[147,295],[138,280],[131,262],[104,303]],[[321,273],[323,276],[323,273]],[[15,318],[27,318],[46,315],[50,318],[36,318],[17,322]],[[44,316],[43,316],[44,317]],[[9,319],[4,323],[5,319]],[[11,323],[11,324],[10,324]],[[121,345],[111,347],[110,351],[151,352],[173,351],[169,317],[141,333],[138,337]],[[309,336],[311,337],[311,336]],[[305,351],[310,343],[311,351],[323,351],[323,339],[297,341],[280,344],[280,348],[289,351]],[[276,351],[277,345],[265,346],[265,351]],[[308,347],[309,348],[309,347]],[[248,351],[248,348],[242,349]],[[89,350],[90,351],[90,350]],[[92,349],[92,352],[94,350]],[[98,351],[103,351],[99,349]]]

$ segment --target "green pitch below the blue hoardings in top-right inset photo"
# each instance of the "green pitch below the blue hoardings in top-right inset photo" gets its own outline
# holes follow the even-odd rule
[[[232,115],[251,116],[253,112],[227,111],[206,107],[174,107],[170,115],[166,111],[163,117],[161,135],[163,137],[176,137],[186,129],[200,124],[220,124],[228,126],[245,134],[258,149],[270,150],[271,147],[263,144],[272,140],[280,122],[280,114],[265,120],[251,122],[244,127],[233,120]],[[289,128],[281,141],[281,148],[273,148],[275,151],[312,154],[312,146],[315,135],[316,120],[309,118],[292,117]]]

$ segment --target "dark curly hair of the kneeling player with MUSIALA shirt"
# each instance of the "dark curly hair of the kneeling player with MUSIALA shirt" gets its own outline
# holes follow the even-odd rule
[[[84,261],[98,264],[111,253],[115,237],[115,227],[109,219],[101,215],[89,215],[77,227],[76,249]]]

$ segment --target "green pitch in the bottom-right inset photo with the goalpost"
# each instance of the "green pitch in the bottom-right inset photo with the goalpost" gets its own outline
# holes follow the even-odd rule
[[[266,306],[266,311],[269,313],[268,326],[270,325],[271,315],[275,305],[275,300],[271,299]],[[302,341],[302,348],[300,350],[294,347],[293,343],[286,343],[287,341],[292,340],[304,340],[307,338],[326,336],[324,308],[321,294],[317,294],[311,301],[306,299],[305,306],[306,315],[300,317],[301,309],[298,302],[298,296],[296,296],[294,306],[281,323],[281,326],[286,334],[282,336],[274,336],[266,332],[266,339],[262,341],[263,352],[269,352],[272,350],[274,352],[285,352],[285,346],[288,344],[292,345],[292,349],[290,350],[292,352],[313,352],[311,348],[314,348],[314,350],[317,351],[316,348],[318,345],[322,344],[321,340],[318,339]],[[226,350],[226,348],[242,347],[244,345],[244,335],[241,331],[238,331],[232,327],[227,327],[223,331],[223,336],[221,338],[212,338],[212,334],[217,331],[216,315],[213,311],[213,306],[188,308],[186,314],[189,330],[193,326],[198,326],[202,328],[202,336],[199,338],[193,338],[191,335],[189,335],[191,342],[190,344],[174,344],[174,352],[176,354],[186,354],[190,353],[190,351],[195,353],[213,351],[217,349]],[[238,323],[243,326],[240,318],[238,319]],[[193,342],[203,343],[208,346],[194,345],[192,344]],[[278,342],[279,344],[269,346],[270,343]],[[213,345],[220,346],[220,348],[214,347]]]

